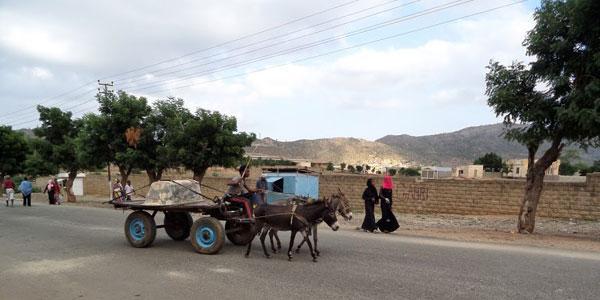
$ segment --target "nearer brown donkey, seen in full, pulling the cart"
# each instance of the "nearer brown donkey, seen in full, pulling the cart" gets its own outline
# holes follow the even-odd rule
[[[260,242],[263,252],[267,258],[271,255],[267,252],[265,246],[265,237],[271,229],[291,231],[290,246],[288,249],[288,259],[292,260],[292,247],[294,246],[294,239],[296,233],[301,232],[304,240],[308,244],[310,254],[313,257],[313,261],[317,261],[317,256],[313,251],[312,244],[308,240],[308,230],[312,223],[317,219],[322,219],[333,229],[334,231],[339,229],[337,224],[337,217],[335,213],[335,207],[331,200],[322,200],[315,202],[314,204],[308,205],[270,205],[262,204],[254,210],[254,219],[256,222],[257,232],[260,232]],[[256,236],[254,236],[256,237]],[[250,255],[252,249],[252,241],[254,237],[248,243],[248,249],[246,250],[246,257]]]

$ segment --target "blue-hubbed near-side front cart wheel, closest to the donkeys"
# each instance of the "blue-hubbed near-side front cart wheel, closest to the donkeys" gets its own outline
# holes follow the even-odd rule
[[[198,253],[216,254],[223,248],[225,230],[213,217],[200,218],[192,225],[192,246]]]

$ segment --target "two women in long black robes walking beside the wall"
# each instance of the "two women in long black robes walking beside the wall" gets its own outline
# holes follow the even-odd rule
[[[400,227],[396,216],[392,212],[393,189],[394,183],[390,175],[383,177],[383,184],[379,191],[377,191],[372,178],[367,180],[367,188],[362,194],[362,199],[365,201],[365,219],[361,226],[362,230],[368,232],[379,230],[390,233]],[[381,219],[375,221],[375,205],[378,203],[381,203]]]

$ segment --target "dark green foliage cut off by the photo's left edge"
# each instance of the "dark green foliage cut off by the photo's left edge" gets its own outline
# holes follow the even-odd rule
[[[30,149],[23,134],[10,126],[0,126],[0,176],[19,174]]]

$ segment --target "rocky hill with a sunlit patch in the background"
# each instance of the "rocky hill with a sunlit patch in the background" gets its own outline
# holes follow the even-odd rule
[[[374,142],[355,138],[279,142],[265,138],[256,141],[248,151],[282,158],[384,165],[456,166],[471,163],[488,152],[498,153],[504,159],[526,158],[525,147],[507,141],[502,133],[503,125],[494,124],[428,136],[387,135]],[[599,149],[580,152],[587,163],[600,159]]]

